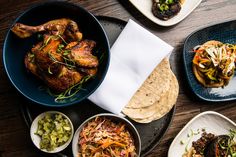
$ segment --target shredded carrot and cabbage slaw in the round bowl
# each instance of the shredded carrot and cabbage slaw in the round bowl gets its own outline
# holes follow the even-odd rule
[[[96,117],[79,135],[78,157],[137,157],[132,136],[125,124]]]

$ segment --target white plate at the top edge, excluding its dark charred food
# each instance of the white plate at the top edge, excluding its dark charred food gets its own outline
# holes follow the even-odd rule
[[[202,0],[185,0],[180,12],[167,21],[158,19],[152,14],[152,0],[129,0],[143,15],[149,18],[151,21],[155,22],[161,26],[172,26],[185,17],[187,17],[200,3]]]

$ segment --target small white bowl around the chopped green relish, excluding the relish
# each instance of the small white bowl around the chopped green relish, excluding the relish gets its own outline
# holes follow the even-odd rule
[[[52,151],[47,151],[46,149],[40,149],[39,143],[40,143],[41,138],[38,135],[35,135],[35,132],[37,131],[37,128],[38,128],[38,121],[40,119],[42,119],[46,114],[61,114],[63,117],[65,117],[69,121],[69,123],[71,125],[71,136],[70,136],[69,140],[66,143],[64,143],[62,146],[57,147]],[[41,113],[40,115],[38,115],[34,119],[33,123],[31,124],[31,128],[30,128],[30,136],[31,136],[31,139],[32,139],[34,145],[39,150],[41,150],[43,152],[46,152],[46,153],[57,153],[57,152],[60,152],[60,151],[64,150],[70,144],[70,142],[73,138],[73,134],[74,134],[74,127],[73,127],[73,124],[72,124],[71,120],[64,113],[61,113],[61,112],[58,112],[58,111],[47,111],[47,112]]]

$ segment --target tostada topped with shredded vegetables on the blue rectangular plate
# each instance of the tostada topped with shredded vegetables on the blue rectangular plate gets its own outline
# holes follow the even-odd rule
[[[224,87],[234,75],[236,45],[208,41],[194,48],[193,72],[204,87]]]

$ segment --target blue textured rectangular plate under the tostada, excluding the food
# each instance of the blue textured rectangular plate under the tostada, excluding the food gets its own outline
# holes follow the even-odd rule
[[[192,71],[192,59],[194,57],[193,47],[201,45],[209,40],[218,40],[223,43],[236,44],[236,21],[209,26],[190,34],[183,50],[185,72],[189,85],[200,99],[207,101],[228,101],[236,99],[236,76],[224,88],[205,88],[197,82]]]

